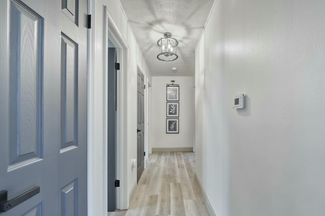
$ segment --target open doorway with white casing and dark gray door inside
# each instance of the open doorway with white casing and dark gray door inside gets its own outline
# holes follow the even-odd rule
[[[107,12],[107,8],[104,7]],[[104,202],[107,211],[127,209],[127,43],[105,14]],[[119,63],[117,65],[116,63]],[[119,187],[116,182],[119,181]]]

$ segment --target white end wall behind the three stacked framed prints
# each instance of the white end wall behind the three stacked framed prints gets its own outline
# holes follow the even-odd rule
[[[179,133],[166,133],[166,85],[179,84]],[[192,77],[152,77],[152,148],[193,147]]]

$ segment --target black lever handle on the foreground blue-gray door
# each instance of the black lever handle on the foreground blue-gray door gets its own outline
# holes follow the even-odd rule
[[[40,187],[37,186],[23,194],[20,194],[19,196],[7,200],[8,198],[8,191],[0,191],[0,212],[6,212],[13,207],[19,205],[20,203],[26,201],[27,199],[35,196],[36,194],[40,193]]]

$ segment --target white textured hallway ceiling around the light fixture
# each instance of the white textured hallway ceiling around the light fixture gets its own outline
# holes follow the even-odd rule
[[[152,76],[194,75],[194,48],[214,0],[120,0]],[[159,61],[157,40],[171,32],[178,59]],[[172,72],[177,67],[177,73]]]

